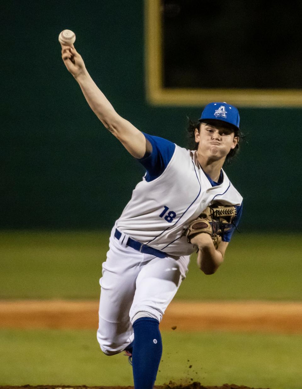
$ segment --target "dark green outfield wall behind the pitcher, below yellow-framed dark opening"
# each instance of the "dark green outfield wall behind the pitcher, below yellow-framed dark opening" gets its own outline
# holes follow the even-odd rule
[[[140,130],[186,147],[203,107],[147,103],[142,0],[13,1],[1,18],[0,228],[110,228],[144,169],[88,106],[59,32],[76,33],[91,77]],[[244,197],[240,229],[301,230],[302,110],[239,110],[247,142],[225,170]]]

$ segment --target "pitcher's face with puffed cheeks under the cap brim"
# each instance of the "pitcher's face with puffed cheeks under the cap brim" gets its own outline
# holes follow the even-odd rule
[[[212,161],[225,158],[239,141],[234,135],[223,123],[201,123],[200,130],[195,130],[195,142],[199,142],[197,152]]]

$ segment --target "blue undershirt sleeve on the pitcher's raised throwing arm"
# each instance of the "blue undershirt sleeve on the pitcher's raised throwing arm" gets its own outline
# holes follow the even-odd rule
[[[147,171],[146,181],[152,181],[163,173],[174,154],[176,146],[167,139],[148,135],[144,132],[143,134],[151,143],[152,152],[137,160]]]

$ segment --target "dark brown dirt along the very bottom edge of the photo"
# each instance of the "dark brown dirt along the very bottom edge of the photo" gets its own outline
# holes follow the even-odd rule
[[[134,389],[133,386],[68,386],[68,385],[23,385],[23,386],[0,386],[0,389]],[[222,386],[203,386],[199,382],[192,382],[190,385],[177,385],[170,382],[167,385],[155,386],[154,389],[270,389],[270,388],[251,388],[248,386],[238,386],[235,384],[224,384]]]

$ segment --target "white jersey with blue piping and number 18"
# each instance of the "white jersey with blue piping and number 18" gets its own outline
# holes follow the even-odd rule
[[[197,151],[144,135],[153,150],[140,162],[146,166],[147,159],[153,158],[157,163],[150,164],[133,190],[116,227],[133,239],[168,254],[190,255],[196,250],[185,236],[191,221],[217,201],[240,206],[242,196],[223,169],[219,181],[211,182],[198,163]]]

